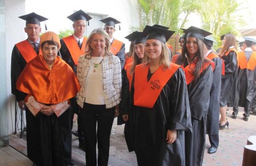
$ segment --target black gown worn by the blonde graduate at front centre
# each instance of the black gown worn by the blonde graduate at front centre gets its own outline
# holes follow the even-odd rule
[[[150,77],[148,70],[147,80]],[[130,95],[132,103],[134,81]],[[172,75],[152,109],[133,104],[130,108],[138,165],[185,165],[184,131],[191,132],[192,126],[184,71],[179,68]],[[177,139],[172,144],[166,142],[168,129],[177,130]]]

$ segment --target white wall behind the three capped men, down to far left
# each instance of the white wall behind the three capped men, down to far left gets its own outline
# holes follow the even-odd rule
[[[121,22],[121,31],[116,27],[114,37],[125,42],[126,50],[129,49],[129,41],[124,39],[131,33],[130,27],[139,26],[137,0],[5,0],[6,15],[6,75],[7,75],[7,110],[9,113],[9,132],[14,132],[15,102],[11,95],[11,51],[14,44],[27,38],[24,33],[25,22],[18,16],[36,12],[36,14],[48,18],[46,21],[48,31],[58,33],[60,30],[72,29],[71,20],[67,16],[73,11],[84,10],[88,13],[111,16]],[[101,23],[101,28],[104,24]],[[93,26],[90,23],[90,26]],[[44,23],[41,24],[42,32],[45,32]],[[97,27],[95,27],[97,28]]]

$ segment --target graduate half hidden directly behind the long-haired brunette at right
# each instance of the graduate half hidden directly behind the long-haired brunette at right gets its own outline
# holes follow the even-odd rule
[[[217,56],[212,49],[213,42],[216,40],[212,36],[204,37],[205,54],[204,56],[214,62],[213,82],[210,90],[210,104],[207,114],[207,134],[209,135],[210,148],[208,154],[213,154],[218,148],[218,120],[220,115],[220,90],[221,90],[221,74],[224,71],[224,62]],[[217,42],[216,42],[217,43]]]

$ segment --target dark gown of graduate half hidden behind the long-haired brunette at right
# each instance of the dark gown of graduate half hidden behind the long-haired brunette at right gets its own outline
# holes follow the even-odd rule
[[[210,104],[207,113],[207,134],[218,135],[218,119],[220,115],[220,91],[221,91],[221,73],[222,60],[221,58],[211,59],[214,64],[213,82],[210,89]]]

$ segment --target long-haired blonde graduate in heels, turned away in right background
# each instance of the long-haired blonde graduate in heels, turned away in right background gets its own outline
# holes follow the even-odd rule
[[[225,129],[229,126],[228,119],[226,118],[227,100],[230,92],[236,93],[232,87],[235,87],[234,81],[237,74],[237,47],[236,37],[231,33],[224,36],[224,45],[217,55],[220,56],[225,63],[225,75],[221,76],[221,95],[220,95],[220,127]],[[230,95],[234,96],[234,95]]]

